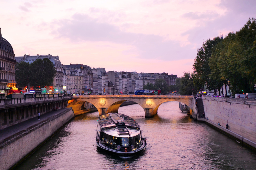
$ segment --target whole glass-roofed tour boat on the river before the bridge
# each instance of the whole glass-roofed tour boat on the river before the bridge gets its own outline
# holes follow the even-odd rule
[[[99,116],[97,145],[119,155],[131,155],[147,146],[139,124],[129,116],[108,113]]]

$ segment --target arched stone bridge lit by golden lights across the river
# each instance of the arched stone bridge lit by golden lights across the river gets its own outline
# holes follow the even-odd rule
[[[169,101],[184,103],[193,110],[193,97],[193,95],[86,95],[74,96],[73,105],[77,104],[78,107],[82,107],[85,102],[89,102],[97,108],[99,115],[102,115],[118,113],[118,109],[123,102],[133,101],[144,109],[146,117],[152,117],[157,114],[157,110],[162,103]]]

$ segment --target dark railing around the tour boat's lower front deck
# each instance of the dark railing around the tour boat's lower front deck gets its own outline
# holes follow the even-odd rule
[[[129,145],[129,146],[127,146],[127,148],[130,147],[131,151],[134,151],[134,152],[136,152],[137,150],[143,149],[147,145],[145,136],[144,136],[144,138],[142,138],[142,140],[144,140],[144,141],[142,141],[139,144],[133,145],[133,146]],[[105,149],[108,149],[108,150],[111,150],[111,151],[116,151],[116,152],[119,151],[119,150],[116,149],[118,145],[114,145],[114,144],[111,144],[111,143],[108,143],[108,142],[104,142],[104,141],[99,140],[99,139],[98,139],[98,143],[101,147],[103,147]]]

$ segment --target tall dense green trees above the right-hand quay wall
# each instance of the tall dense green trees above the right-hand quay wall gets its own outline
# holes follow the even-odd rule
[[[203,42],[193,69],[197,90],[206,85],[208,90],[220,93],[221,87],[228,85],[232,93],[255,92],[256,20],[249,19],[240,31],[224,39],[215,37]]]

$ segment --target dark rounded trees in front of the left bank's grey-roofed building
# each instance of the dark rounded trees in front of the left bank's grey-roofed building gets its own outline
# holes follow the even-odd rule
[[[30,85],[35,87],[50,86],[56,75],[56,70],[50,59],[37,59],[31,64],[20,62],[16,64],[16,81],[18,87]]]

